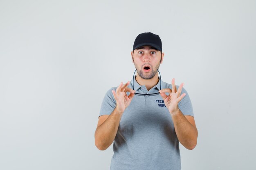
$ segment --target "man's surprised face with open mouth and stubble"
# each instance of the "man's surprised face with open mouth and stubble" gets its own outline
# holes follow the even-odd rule
[[[137,73],[143,79],[152,79],[156,75],[157,69],[163,62],[163,59],[164,53],[161,56],[161,52],[151,46],[142,46],[135,49],[133,53],[133,63],[137,69]]]

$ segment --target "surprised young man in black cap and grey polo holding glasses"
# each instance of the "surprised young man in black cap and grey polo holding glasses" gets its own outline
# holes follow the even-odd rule
[[[191,150],[198,137],[189,95],[183,83],[158,77],[164,60],[158,35],[139,34],[131,57],[137,76],[106,93],[95,145],[106,150],[114,141],[111,170],[179,170],[179,142]]]

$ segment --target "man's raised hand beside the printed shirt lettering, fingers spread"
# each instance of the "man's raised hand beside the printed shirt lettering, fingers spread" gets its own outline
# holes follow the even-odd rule
[[[180,95],[184,83],[180,84],[180,87],[177,90],[175,85],[175,79],[173,79],[172,86],[173,90],[171,90],[170,88],[164,88],[162,90],[159,90],[159,93],[164,99],[164,104],[168,108],[171,115],[175,115],[176,113],[178,113],[179,110],[178,103],[182,100],[186,93]],[[166,95],[165,93],[169,93],[169,95]]]

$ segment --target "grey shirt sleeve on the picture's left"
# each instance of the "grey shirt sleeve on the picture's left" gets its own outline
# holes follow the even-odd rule
[[[112,111],[116,108],[116,100],[112,93],[112,90],[116,91],[116,88],[117,87],[110,88],[110,90],[108,90],[106,95],[104,96],[102,104],[101,104],[101,110],[99,113],[99,117],[102,115],[110,115],[112,113]]]

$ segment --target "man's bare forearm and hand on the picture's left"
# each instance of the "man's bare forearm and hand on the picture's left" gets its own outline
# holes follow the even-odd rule
[[[124,110],[130,105],[135,93],[135,91],[127,87],[129,83],[130,82],[127,82],[124,85],[121,83],[116,92],[114,90],[112,91],[116,100],[116,108],[109,116],[103,115],[99,117],[97,129],[94,134],[95,145],[99,150],[106,150],[112,144],[115,136],[117,135],[121,117]],[[127,96],[126,92],[130,92],[130,95]]]

